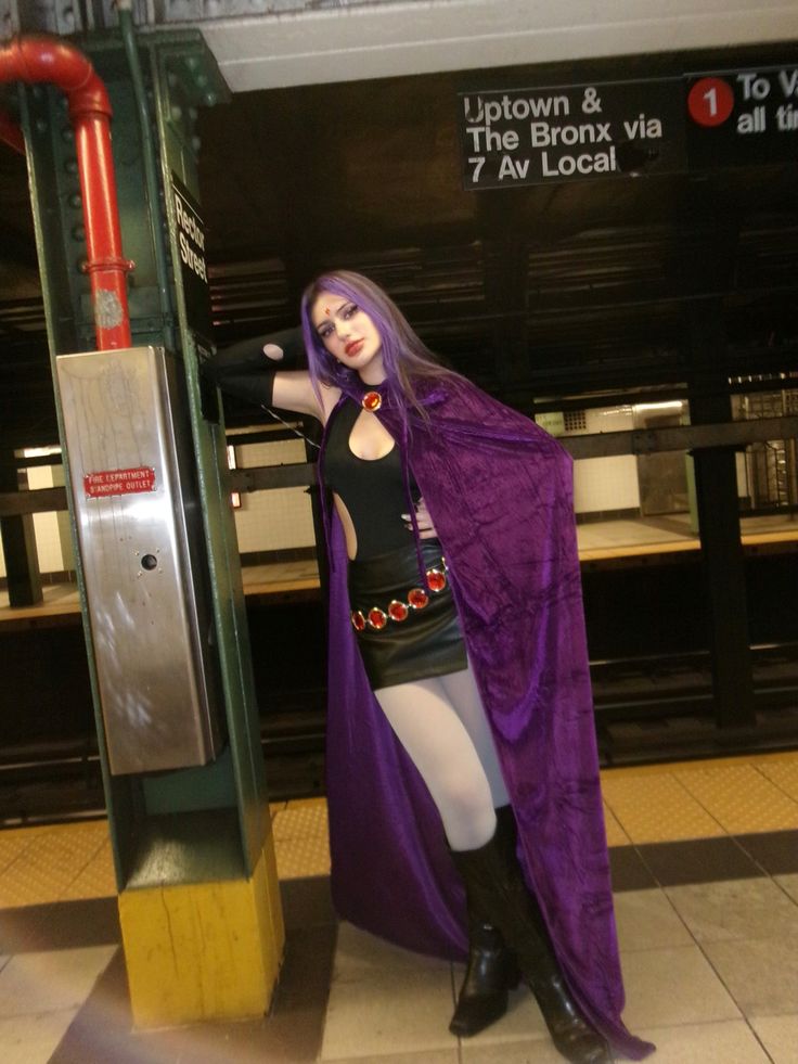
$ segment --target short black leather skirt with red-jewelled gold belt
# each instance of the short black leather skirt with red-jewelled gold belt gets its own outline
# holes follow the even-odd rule
[[[372,690],[468,667],[449,575],[437,539],[349,562],[351,621]]]

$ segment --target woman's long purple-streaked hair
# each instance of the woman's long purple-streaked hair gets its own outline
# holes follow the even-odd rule
[[[414,407],[424,416],[415,386],[423,380],[456,379],[458,374],[446,369],[419,338],[404,315],[390,296],[378,285],[351,270],[322,273],[305,290],[301,300],[303,335],[308,352],[308,369],[313,387],[320,384],[347,389],[359,384],[356,370],[334,358],[313,328],[311,311],[322,292],[350,299],[364,310],[379,333],[386,386],[398,400],[400,410]]]

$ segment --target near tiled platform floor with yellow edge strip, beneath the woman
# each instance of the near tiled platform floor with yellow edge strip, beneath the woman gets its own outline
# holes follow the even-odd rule
[[[661,1064],[798,1062],[798,754],[602,773],[626,1020]],[[447,1031],[461,971],[335,920],[323,798],[271,807],[287,924],[258,1021],[133,1031],[103,820],[0,832],[3,1064],[556,1064],[526,989]]]

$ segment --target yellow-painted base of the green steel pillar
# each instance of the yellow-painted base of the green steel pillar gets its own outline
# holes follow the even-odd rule
[[[268,1012],[285,944],[271,844],[252,879],[123,890],[118,905],[137,1027]]]

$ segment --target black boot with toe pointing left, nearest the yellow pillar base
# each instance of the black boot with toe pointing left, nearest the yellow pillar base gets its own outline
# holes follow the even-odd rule
[[[497,816],[501,816],[500,810]],[[467,887],[466,903],[468,964],[449,1024],[449,1030],[459,1038],[471,1038],[501,1020],[507,1011],[507,990],[514,990],[520,983],[515,953],[507,949],[502,933]]]

